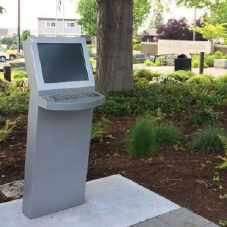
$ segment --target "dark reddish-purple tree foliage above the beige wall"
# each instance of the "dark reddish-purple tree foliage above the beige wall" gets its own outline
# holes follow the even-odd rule
[[[173,40],[192,40],[193,32],[190,30],[190,26],[187,24],[187,20],[182,18],[180,20],[169,19],[167,24],[159,27],[157,33],[161,39],[173,39]],[[196,34],[197,40],[204,40],[200,33]]]

